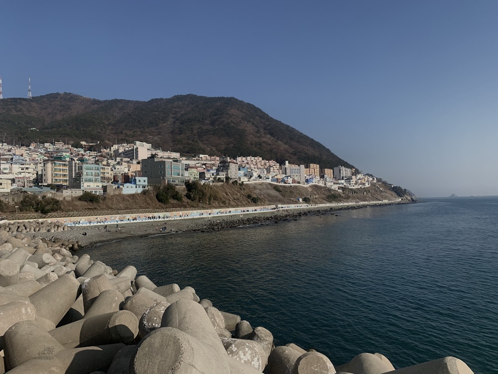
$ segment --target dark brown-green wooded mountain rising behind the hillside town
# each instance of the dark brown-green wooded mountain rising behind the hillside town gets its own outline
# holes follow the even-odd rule
[[[322,168],[351,164],[319,142],[233,97],[177,95],[144,101],[97,100],[72,93],[0,100],[5,141],[100,142],[135,140],[182,155],[261,156]],[[1,134],[0,134],[1,136]]]

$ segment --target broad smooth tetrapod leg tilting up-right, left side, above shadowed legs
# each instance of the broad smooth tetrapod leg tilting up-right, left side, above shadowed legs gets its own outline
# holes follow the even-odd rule
[[[57,326],[76,301],[79,290],[80,282],[71,275],[64,275],[30,295],[29,300],[40,317],[52,321]]]

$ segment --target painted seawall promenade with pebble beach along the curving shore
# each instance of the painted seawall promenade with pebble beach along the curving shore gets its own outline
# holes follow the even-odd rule
[[[79,247],[99,243],[142,237],[155,234],[203,231],[266,224],[285,219],[298,219],[317,212],[334,212],[343,209],[358,209],[402,203],[401,200],[343,202],[328,204],[285,204],[237,208],[214,208],[197,210],[164,211],[154,213],[126,213],[61,217],[47,220],[47,224],[64,225],[67,230],[39,232],[45,238],[57,238],[78,242]],[[21,233],[29,233],[23,222],[32,220],[4,221],[2,224],[17,224]],[[31,230],[33,232],[33,230]],[[34,233],[34,232],[33,232]]]

